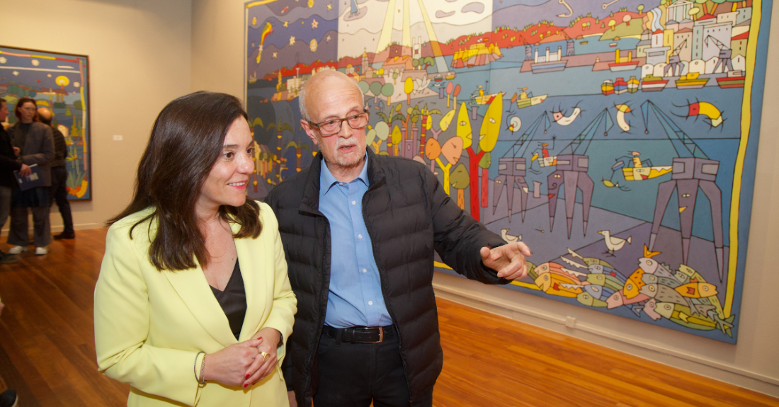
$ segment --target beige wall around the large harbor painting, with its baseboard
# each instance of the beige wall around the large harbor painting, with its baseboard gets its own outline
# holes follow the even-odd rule
[[[192,1],[192,90],[243,95],[243,0]],[[774,15],[777,15],[774,12]],[[779,72],[779,20],[774,20],[768,72]],[[779,79],[767,79],[753,223],[747,255],[738,345],[657,328],[509,289],[436,275],[436,293],[533,325],[597,342],[650,360],[779,396],[779,273],[771,259],[779,246]],[[774,201],[776,202],[776,201]],[[532,245],[532,242],[527,242]],[[576,318],[566,328],[566,317]],[[605,361],[605,363],[608,363]]]

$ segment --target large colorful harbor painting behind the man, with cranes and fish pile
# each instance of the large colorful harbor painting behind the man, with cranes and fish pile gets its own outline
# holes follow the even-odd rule
[[[248,2],[250,194],[311,163],[298,94],[338,69],[365,93],[368,148],[532,248],[507,288],[735,343],[770,5]]]

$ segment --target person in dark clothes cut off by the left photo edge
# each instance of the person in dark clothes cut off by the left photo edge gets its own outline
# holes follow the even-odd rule
[[[0,122],[5,121],[5,118],[8,118],[8,104],[0,98]],[[11,212],[11,191],[17,188],[13,171],[19,171],[24,176],[30,174],[30,167],[16,160],[11,136],[0,125],[0,229],[5,226]],[[12,256],[0,251],[0,263],[9,261],[13,261]]]

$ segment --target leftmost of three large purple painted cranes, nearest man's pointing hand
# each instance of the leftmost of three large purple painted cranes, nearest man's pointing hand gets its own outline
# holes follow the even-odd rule
[[[536,130],[544,123],[544,132],[546,132],[552,122],[549,121],[549,114],[544,111],[522,134],[519,140],[498,160],[498,177],[495,178],[495,191],[492,192],[492,214],[495,215],[495,209],[498,207],[498,199],[503,189],[506,189],[506,199],[509,203],[509,222],[511,222],[511,212],[514,202],[514,185],[520,189],[520,210],[522,213],[522,222],[525,221],[525,210],[527,210],[527,160],[524,154],[527,152],[527,146],[530,146],[530,140],[533,139]]]

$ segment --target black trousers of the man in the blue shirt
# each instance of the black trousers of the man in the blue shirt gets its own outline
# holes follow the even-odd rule
[[[412,404],[394,328],[381,343],[340,342],[323,334],[317,349],[319,388],[314,407],[432,405],[432,391]]]

